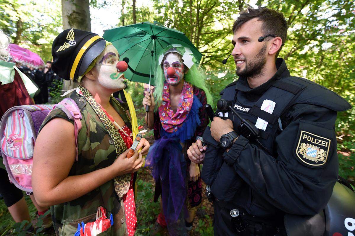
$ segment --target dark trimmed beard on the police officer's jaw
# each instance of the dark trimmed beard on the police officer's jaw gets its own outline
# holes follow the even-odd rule
[[[248,62],[245,60],[245,68],[241,70],[240,68],[236,68],[235,74],[239,77],[254,77],[257,75],[261,75],[263,73],[264,65],[266,64],[266,45],[264,45],[258,54],[254,57],[253,60]]]

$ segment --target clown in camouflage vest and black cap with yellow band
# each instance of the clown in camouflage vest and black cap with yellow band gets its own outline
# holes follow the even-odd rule
[[[70,98],[80,110],[82,127],[76,149],[76,126],[64,111],[52,110],[42,123],[33,154],[32,184],[38,203],[52,206],[56,235],[74,235],[82,221],[90,225],[99,208],[113,215],[113,223],[94,229],[96,233],[133,236],[137,226],[134,172],[142,166],[149,143],[142,139],[137,147],[143,148],[141,152],[126,158],[133,124],[125,104],[111,94],[124,89],[127,64],[119,61],[110,42],[78,29],[57,36],[52,55],[53,71],[78,84]]]

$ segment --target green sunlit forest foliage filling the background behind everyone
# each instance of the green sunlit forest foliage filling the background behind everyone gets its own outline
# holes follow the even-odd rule
[[[139,1],[138,1],[139,2]],[[91,0],[91,14],[100,7],[115,7],[120,20],[117,26],[132,24],[132,0]],[[186,34],[203,54],[201,66],[214,104],[219,92],[237,79],[235,64],[221,61],[232,50],[231,28],[238,12],[247,6],[267,6],[282,12],[288,22],[288,37],[280,52],[292,75],[317,82],[355,105],[355,6],[353,0],[150,0],[136,9],[137,22],[153,20]],[[62,28],[59,0],[0,0],[0,29],[12,41],[51,59],[51,43]],[[60,86],[60,85],[58,85]],[[142,113],[143,86],[129,84],[135,106]],[[59,98],[58,90],[52,99]],[[138,123],[144,123],[138,117]],[[339,152],[339,174],[354,183],[355,111],[338,114],[335,125]],[[152,136],[152,132],[148,133]],[[143,215],[137,235],[148,235],[157,215],[158,205],[151,202],[152,183],[138,180],[138,213]],[[150,190],[150,191],[149,191]],[[0,206],[0,219],[8,219]],[[31,210],[33,211],[33,210]],[[2,220],[1,220],[2,221]],[[198,235],[211,235],[212,219],[197,222]],[[0,235],[11,223],[0,224]],[[5,229],[5,231],[4,231]],[[3,234],[4,233],[4,234]]]

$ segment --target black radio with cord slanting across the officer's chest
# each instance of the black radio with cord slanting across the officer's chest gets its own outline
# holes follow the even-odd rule
[[[227,111],[227,110],[232,111],[233,120],[234,120],[234,115],[236,115],[241,121],[238,126],[238,130],[239,130],[240,134],[250,141],[257,142],[261,146],[262,149],[264,149],[265,151],[267,151],[269,154],[272,155],[271,151],[269,151],[266,148],[266,146],[258,139],[260,137],[260,131],[250,120],[244,119],[243,117],[241,117],[234,110],[234,108],[224,99],[218,100],[217,108],[221,111]]]

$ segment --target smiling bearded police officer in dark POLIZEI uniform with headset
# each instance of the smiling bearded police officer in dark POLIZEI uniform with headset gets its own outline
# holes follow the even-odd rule
[[[201,163],[211,189],[215,235],[284,235],[285,213],[314,215],[326,206],[338,177],[337,111],[351,108],[334,92],[290,76],[277,58],[286,39],[282,13],[265,7],[240,13],[231,55],[239,79],[221,99],[260,134],[249,138],[230,110],[187,154]],[[260,144],[261,143],[261,144]],[[206,150],[204,154],[202,151]],[[207,192],[209,195],[209,192]]]

